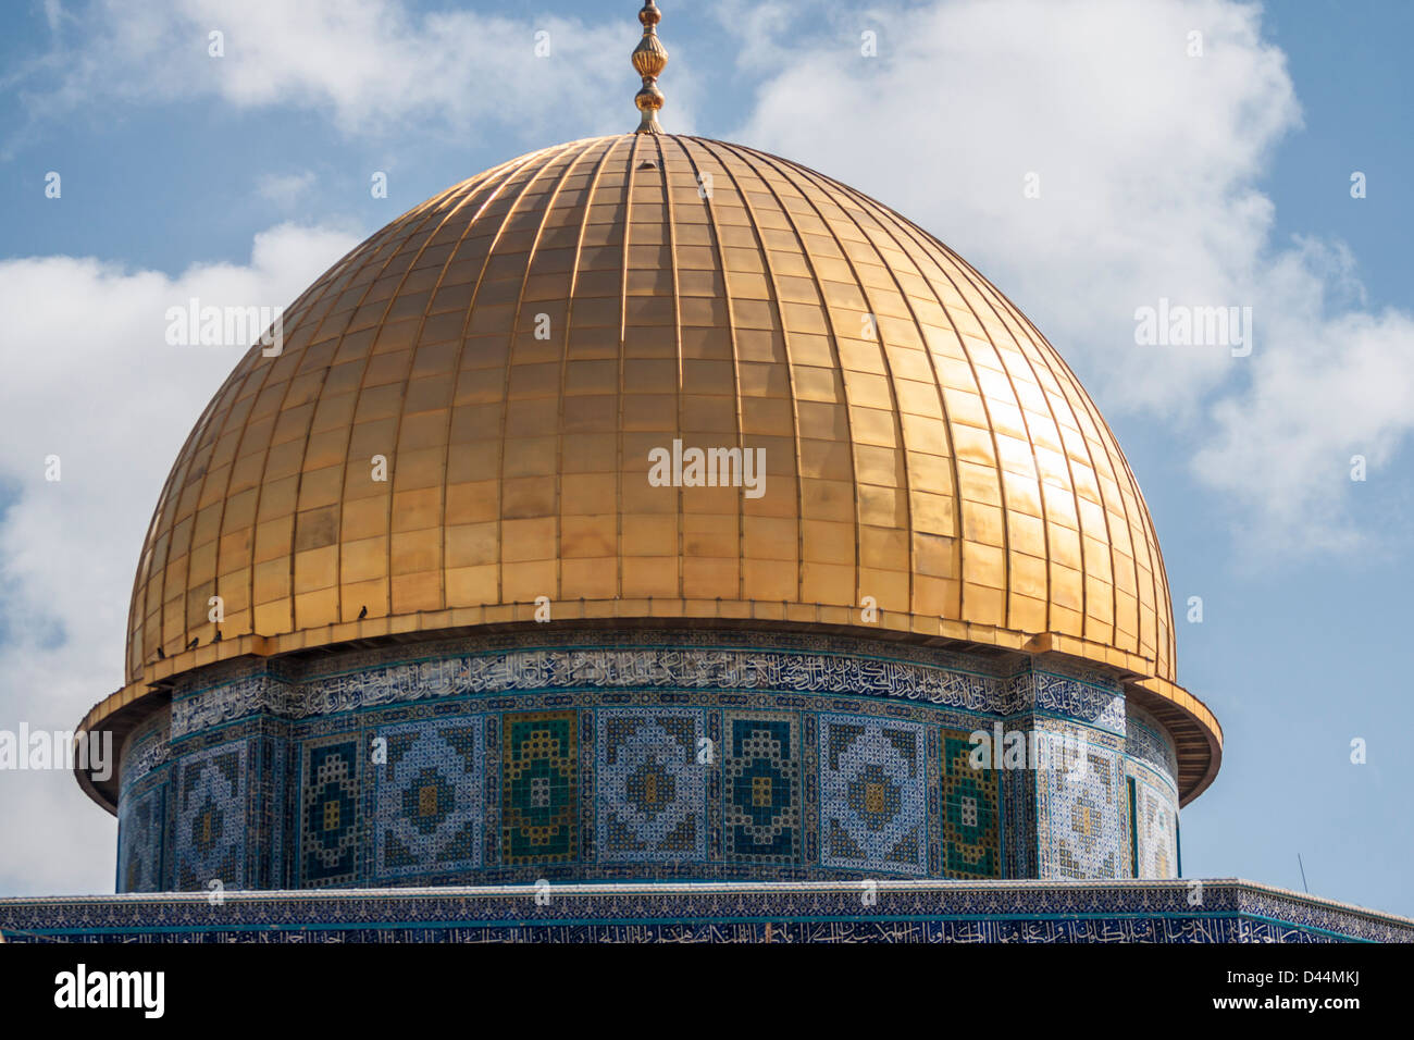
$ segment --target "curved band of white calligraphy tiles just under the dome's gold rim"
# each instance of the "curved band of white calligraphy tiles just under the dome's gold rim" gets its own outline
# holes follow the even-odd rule
[[[416,658],[410,655],[416,652]],[[329,658],[216,665],[178,679],[171,739],[247,715],[288,719],[486,691],[738,688],[858,692],[1003,716],[1056,712],[1124,732],[1118,683],[1059,662],[1039,666],[906,644],[711,630],[527,632],[390,647]]]

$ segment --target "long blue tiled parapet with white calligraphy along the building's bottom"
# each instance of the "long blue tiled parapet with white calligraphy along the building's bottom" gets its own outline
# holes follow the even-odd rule
[[[1239,880],[580,884],[0,900],[7,942],[1414,941],[1414,920]]]

